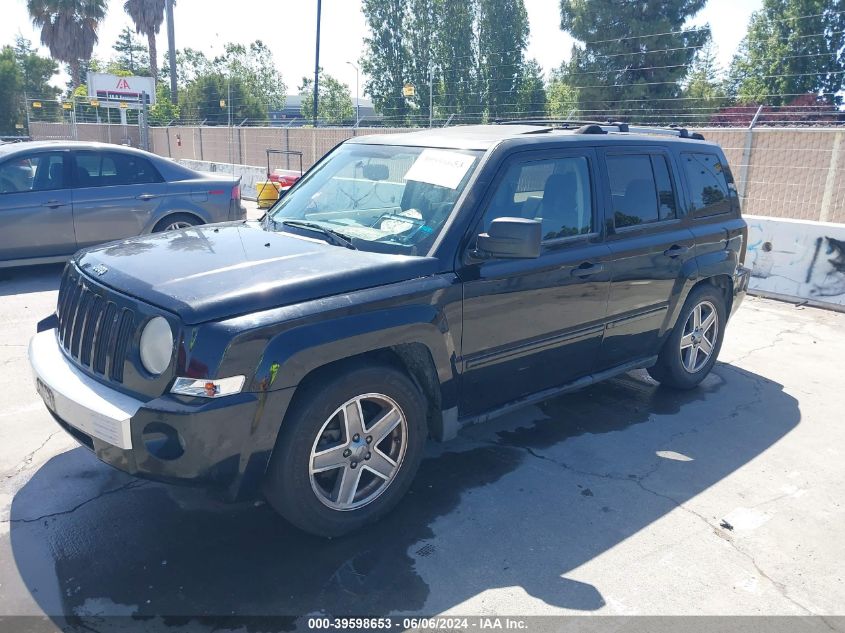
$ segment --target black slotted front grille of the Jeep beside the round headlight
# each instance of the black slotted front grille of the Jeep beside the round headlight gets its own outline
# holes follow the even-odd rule
[[[85,280],[69,272],[62,277],[59,342],[80,365],[123,382],[123,363],[135,330],[135,313],[120,308]]]

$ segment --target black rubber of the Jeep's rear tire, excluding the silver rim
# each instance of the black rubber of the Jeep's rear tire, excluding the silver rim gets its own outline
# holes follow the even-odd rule
[[[693,309],[702,301],[709,301],[716,308],[719,319],[719,330],[716,333],[716,341],[713,345],[713,352],[704,366],[695,373],[688,372],[681,359],[681,338],[684,334],[684,325],[692,314]],[[707,377],[722,349],[722,340],[725,336],[725,325],[727,325],[727,312],[725,309],[725,298],[718,288],[712,286],[701,286],[694,289],[678,315],[678,320],[672,330],[672,334],[666,340],[663,349],[658,357],[652,376],[661,383],[677,389],[692,389],[697,387]]]

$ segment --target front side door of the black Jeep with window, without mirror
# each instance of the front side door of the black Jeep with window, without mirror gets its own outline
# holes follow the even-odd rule
[[[610,294],[593,150],[517,154],[476,233],[497,217],[542,223],[536,259],[474,259],[464,288],[461,417],[589,374],[601,345]]]

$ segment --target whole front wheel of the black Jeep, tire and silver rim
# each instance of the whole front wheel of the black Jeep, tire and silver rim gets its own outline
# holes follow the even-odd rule
[[[391,427],[379,440],[376,433]],[[405,495],[426,435],[426,401],[407,375],[383,364],[346,365],[297,394],[270,458],[265,496],[305,532],[352,532]]]

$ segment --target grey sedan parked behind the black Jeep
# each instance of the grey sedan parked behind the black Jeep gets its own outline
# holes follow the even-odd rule
[[[60,262],[112,240],[241,220],[240,178],[119,145],[0,146],[0,268]]]

